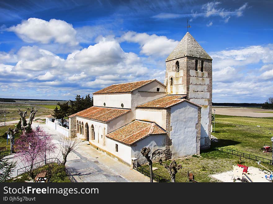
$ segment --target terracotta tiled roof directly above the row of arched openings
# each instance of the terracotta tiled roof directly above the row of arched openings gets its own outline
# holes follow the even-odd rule
[[[131,110],[126,110],[126,109],[103,108],[103,107],[92,106],[90,108],[87,108],[83,111],[80,111],[80,112],[75,113],[75,114],[68,116],[68,117],[71,118],[73,116],[81,116],[81,117],[85,117],[85,118],[108,122],[108,121],[113,120],[119,116],[122,116],[123,114],[126,114],[130,111]]]

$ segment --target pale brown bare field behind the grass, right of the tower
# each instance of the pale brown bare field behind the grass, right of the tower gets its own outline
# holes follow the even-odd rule
[[[228,115],[228,116],[248,116],[248,117],[273,117],[273,110],[264,110],[264,109],[257,109],[257,108],[235,108],[235,107],[212,107],[212,112],[214,113],[213,109],[215,109],[215,114],[219,115]],[[271,113],[259,113],[261,111],[264,112],[271,112]]]

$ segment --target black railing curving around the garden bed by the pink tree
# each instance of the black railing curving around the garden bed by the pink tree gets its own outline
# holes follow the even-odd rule
[[[46,164],[52,164],[52,163],[57,163],[58,165],[61,164],[60,160],[58,158],[49,158],[43,161],[39,161],[35,164],[33,164],[33,169],[38,169],[39,167],[42,167]],[[17,176],[23,173],[26,173],[30,170],[31,165],[25,166],[23,168],[17,169]],[[73,183],[78,183],[78,181],[74,178],[74,176],[65,168],[65,173],[69,177],[70,181]]]

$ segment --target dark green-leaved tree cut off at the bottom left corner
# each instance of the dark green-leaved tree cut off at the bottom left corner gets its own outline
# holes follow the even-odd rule
[[[16,162],[9,161],[7,152],[0,151],[0,182],[6,182],[16,167]]]

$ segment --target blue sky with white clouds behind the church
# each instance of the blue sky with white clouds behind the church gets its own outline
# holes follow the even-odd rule
[[[158,79],[187,30],[213,58],[213,102],[273,96],[273,1],[1,1],[0,97],[74,99]]]

